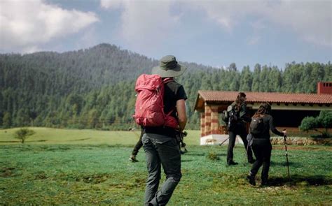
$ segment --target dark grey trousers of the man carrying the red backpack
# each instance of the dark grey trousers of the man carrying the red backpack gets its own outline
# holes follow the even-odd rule
[[[166,205],[181,179],[179,145],[175,138],[156,134],[144,134],[142,142],[148,169],[144,205]],[[166,180],[158,190],[161,166]]]

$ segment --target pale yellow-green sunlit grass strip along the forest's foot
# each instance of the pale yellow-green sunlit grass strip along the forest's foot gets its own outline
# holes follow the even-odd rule
[[[134,145],[139,140],[140,130],[134,131],[97,131],[91,129],[60,129],[29,127],[36,131],[34,135],[27,138],[28,145]],[[0,145],[18,144],[19,140],[14,138],[14,133],[19,128],[0,130]],[[200,144],[200,131],[187,131],[186,143],[189,145]]]

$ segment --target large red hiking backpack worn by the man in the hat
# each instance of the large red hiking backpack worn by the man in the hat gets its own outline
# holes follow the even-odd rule
[[[135,90],[137,99],[135,103],[134,119],[141,126],[170,126],[178,128],[177,119],[170,113],[164,112],[164,84],[171,82],[171,78],[162,80],[159,75],[140,75],[137,78]]]

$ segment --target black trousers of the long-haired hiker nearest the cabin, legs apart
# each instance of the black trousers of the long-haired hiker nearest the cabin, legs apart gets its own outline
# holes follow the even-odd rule
[[[240,138],[244,143],[244,149],[246,149],[248,160],[253,159],[251,148],[248,147],[247,131],[244,125],[235,126],[235,129],[233,131],[229,131],[228,134],[227,162],[229,163],[230,161],[233,161],[233,148],[235,146],[236,135],[240,135]]]

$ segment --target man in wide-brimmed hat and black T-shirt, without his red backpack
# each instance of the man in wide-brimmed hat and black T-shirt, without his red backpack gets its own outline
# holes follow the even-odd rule
[[[174,78],[184,71],[186,67],[178,64],[174,56],[168,55],[160,59],[160,65],[152,69],[152,74],[162,78]],[[148,168],[144,205],[166,205],[181,179],[181,154],[175,135],[177,130],[183,131],[186,126],[186,99],[186,92],[181,84],[174,79],[167,81],[163,98],[164,112],[171,112],[171,115],[177,118],[178,128],[144,126],[142,142]],[[158,190],[161,166],[166,179]]]

